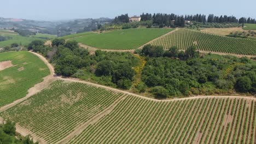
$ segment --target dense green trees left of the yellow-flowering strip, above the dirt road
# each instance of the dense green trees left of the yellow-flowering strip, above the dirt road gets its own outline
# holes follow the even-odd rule
[[[132,85],[138,59],[129,52],[104,52],[97,50],[89,55],[87,49],[80,49],[76,41],[54,39],[52,46],[44,46],[42,40],[34,40],[28,50],[42,53],[55,64],[55,73],[62,76],[82,78],[99,77],[105,85],[128,89]]]

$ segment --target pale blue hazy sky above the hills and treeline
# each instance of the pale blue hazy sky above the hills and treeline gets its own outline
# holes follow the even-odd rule
[[[128,13],[216,14],[256,18],[256,0],[0,0],[0,17],[33,20],[113,18]]]

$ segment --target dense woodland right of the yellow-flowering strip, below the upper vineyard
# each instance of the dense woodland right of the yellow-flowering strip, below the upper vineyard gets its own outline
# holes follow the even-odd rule
[[[200,56],[194,46],[185,52],[161,48],[147,45],[141,51],[147,57],[142,81],[156,97],[256,93],[256,63],[248,58]]]

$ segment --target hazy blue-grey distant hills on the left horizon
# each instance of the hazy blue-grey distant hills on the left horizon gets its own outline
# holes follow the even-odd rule
[[[73,19],[63,21],[36,21],[25,19],[13,19],[0,17],[1,29],[26,29],[32,32],[53,34],[58,36],[88,32],[97,29],[98,25],[104,25],[113,19]]]

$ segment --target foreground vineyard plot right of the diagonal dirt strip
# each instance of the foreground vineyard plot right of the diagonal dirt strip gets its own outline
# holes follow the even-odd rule
[[[248,99],[127,97],[69,143],[254,143],[255,109]]]

